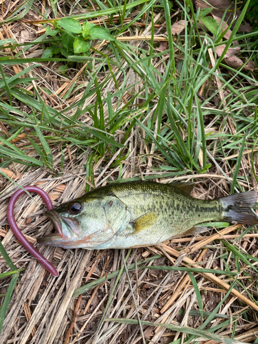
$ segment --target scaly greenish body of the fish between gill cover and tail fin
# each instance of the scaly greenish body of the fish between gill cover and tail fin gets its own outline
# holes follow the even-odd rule
[[[110,190],[128,207],[131,221],[149,213],[155,214],[155,221],[147,222],[148,226],[134,230],[133,233],[128,226],[127,231],[118,233],[107,247],[116,245],[122,248],[125,235],[130,246],[158,244],[186,232],[195,224],[222,217],[223,208],[219,202],[194,199],[169,184],[138,183],[127,184],[125,188],[121,186],[110,186]]]

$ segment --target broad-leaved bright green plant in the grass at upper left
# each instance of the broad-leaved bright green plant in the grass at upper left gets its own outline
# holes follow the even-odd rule
[[[63,18],[54,22],[54,29],[47,25],[46,34],[52,36],[54,44],[43,52],[43,58],[62,54],[65,57],[77,54],[87,56],[90,41],[100,39],[114,41],[109,31],[101,26],[85,21],[83,26],[76,19]]]

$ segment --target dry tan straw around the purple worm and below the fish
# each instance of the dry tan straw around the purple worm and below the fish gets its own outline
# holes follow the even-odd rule
[[[69,161],[67,151],[65,151],[65,160]],[[82,178],[82,166],[85,164],[85,160],[87,160],[87,153],[85,153],[80,164],[73,168],[70,167],[69,171],[58,178],[50,177],[49,172],[42,171],[42,169],[36,169],[33,173],[31,171],[22,173],[19,184],[21,186],[40,184],[50,194],[56,205],[61,204],[84,193],[85,181]],[[78,173],[80,178],[76,177]],[[10,172],[9,175],[10,177],[16,176],[11,175]],[[8,199],[17,189],[17,186],[6,181],[5,189],[6,191],[1,196],[3,212],[1,212],[0,221],[2,228],[6,228],[5,214]],[[43,210],[44,207],[39,197],[30,199],[27,195],[22,196],[17,204],[16,213],[19,214],[19,226],[32,242],[35,242],[34,238],[41,237],[43,233],[51,230],[50,223],[45,221],[45,218],[42,216]],[[239,237],[239,233],[228,235],[228,233],[239,230],[239,228],[241,228],[239,225],[230,226],[211,237],[197,237],[195,238],[196,243],[193,241],[193,238],[183,238],[182,240],[172,239],[169,246],[167,244],[160,244],[156,248],[139,248],[131,252],[127,264],[138,261],[142,257],[150,257],[153,254],[164,255],[164,252],[166,252],[164,257],[169,255],[169,260],[173,264],[175,264],[175,259],[182,255],[181,266],[185,262],[187,266],[193,266],[194,268],[210,268],[211,266],[219,268],[220,259],[216,257],[221,252],[221,246],[219,241],[217,241],[217,245],[214,248],[211,246],[211,243],[219,238],[233,239]],[[46,273],[39,264],[36,264],[34,259],[14,240],[10,230],[1,230],[0,235],[3,237],[3,245],[8,250],[8,254],[14,264],[19,266],[19,268],[26,268],[12,297],[1,335],[1,343],[16,342],[25,344],[29,341],[30,343],[50,344],[57,343],[57,338],[65,339],[64,343],[94,343],[94,329],[98,325],[104,310],[105,300],[112,290],[114,281],[106,281],[94,290],[89,290],[76,298],[72,298],[72,294],[76,288],[87,283],[87,281],[94,281],[94,279],[103,277],[107,273],[118,270],[122,264],[119,251],[87,252],[80,249],[63,250],[61,248],[53,249],[41,246],[39,247],[40,252],[52,260],[60,272],[60,276],[56,279]],[[255,256],[255,254],[257,255],[256,244],[254,244],[256,238],[257,235],[255,233],[248,234],[241,238],[239,245],[246,252],[252,252],[252,255]],[[191,246],[184,248],[190,240],[193,241]],[[180,249],[181,253],[178,252],[178,249]],[[195,258],[189,259],[189,256]],[[201,265],[197,265],[196,260]],[[162,263],[164,264],[164,259],[159,258],[149,262],[149,265],[162,265]],[[248,266],[242,266],[242,271],[244,272],[248,268]],[[6,270],[6,263],[1,259],[1,271],[4,270]],[[213,274],[204,273],[199,276],[202,279],[199,288],[203,290],[204,310],[211,312],[230,285],[226,282],[226,275],[224,277],[216,277]],[[133,292],[136,293],[138,312],[143,321],[190,325],[191,327],[198,327],[202,323],[200,316],[189,315],[181,319],[181,316],[177,315],[179,310],[184,310],[185,314],[189,314],[195,308],[196,300],[193,303],[191,302],[195,295],[195,290],[191,286],[189,275],[186,273],[157,270],[141,270],[137,272],[136,270],[135,272],[130,272],[130,277]],[[241,276],[239,278],[241,279]],[[242,283],[245,283],[247,290],[255,292],[255,285],[248,282],[249,279],[246,277]],[[218,288],[218,286],[222,287],[222,289]],[[4,291],[4,286],[1,288],[1,291]],[[219,310],[219,314],[228,314],[233,319],[233,316],[237,315],[240,310],[245,309],[248,312],[248,321],[241,317],[238,318],[238,323],[241,325],[237,325],[236,334],[240,333],[241,335],[239,334],[235,338],[239,338],[241,341],[245,341],[247,338],[248,342],[250,342],[256,338],[257,330],[252,332],[249,329],[255,326],[255,310],[257,311],[258,307],[256,303],[250,300],[246,292],[238,292],[233,289],[231,294],[232,297],[224,303]],[[244,303],[240,306],[239,301]],[[131,290],[129,290],[125,272],[118,281],[106,317],[126,317],[127,319],[135,319],[136,317],[136,308],[133,305]],[[219,323],[219,319],[217,319],[217,322]],[[133,325],[131,325],[131,332],[127,332],[128,326],[126,324],[118,326],[103,323],[98,335],[100,343],[104,343],[104,338],[103,340],[101,339],[103,334],[105,334],[105,341],[107,343],[118,343],[116,338],[120,338],[123,342],[127,341],[127,343],[140,343],[142,337],[138,334],[138,328],[136,327],[133,330]],[[231,327],[231,325],[228,326],[229,328]],[[228,333],[231,333],[230,330],[224,330],[221,334],[226,336]],[[154,343],[162,343],[164,341],[166,343],[166,339],[172,340],[173,332],[167,336],[164,327],[156,327],[153,330],[153,327],[144,325],[144,336],[145,338],[152,339]],[[212,341],[210,342],[213,343]],[[214,343],[216,342],[214,341]]]

